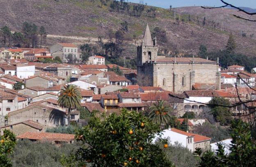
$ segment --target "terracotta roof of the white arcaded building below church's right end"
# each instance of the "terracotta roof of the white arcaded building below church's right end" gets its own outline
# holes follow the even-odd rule
[[[235,98],[234,94],[229,94],[224,91],[217,90],[193,90],[193,91],[184,91],[184,93],[189,97],[225,97],[225,98]]]

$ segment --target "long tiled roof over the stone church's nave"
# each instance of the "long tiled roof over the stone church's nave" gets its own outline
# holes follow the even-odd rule
[[[183,63],[192,63],[193,59],[195,63],[216,63],[215,61],[212,60],[206,60],[203,58],[157,58],[156,62],[174,62],[176,59],[176,62],[183,62]]]

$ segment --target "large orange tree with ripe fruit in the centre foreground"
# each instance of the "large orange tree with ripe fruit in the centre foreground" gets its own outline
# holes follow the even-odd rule
[[[64,166],[93,167],[171,167],[165,153],[152,143],[160,134],[159,125],[136,111],[123,109],[120,115],[92,117],[79,129],[78,151],[62,159]],[[165,147],[168,147],[165,144]]]

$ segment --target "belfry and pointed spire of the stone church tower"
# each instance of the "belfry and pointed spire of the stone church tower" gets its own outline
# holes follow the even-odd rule
[[[155,62],[157,54],[156,37],[152,40],[149,24],[147,24],[142,43],[137,46],[137,66],[141,67],[144,63]]]

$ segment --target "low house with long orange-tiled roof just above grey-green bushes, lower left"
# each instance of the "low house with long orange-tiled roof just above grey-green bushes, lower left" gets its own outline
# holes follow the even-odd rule
[[[49,142],[55,145],[63,143],[73,143],[75,141],[74,134],[58,134],[46,132],[26,132],[16,137],[19,140],[29,139],[31,141]]]

